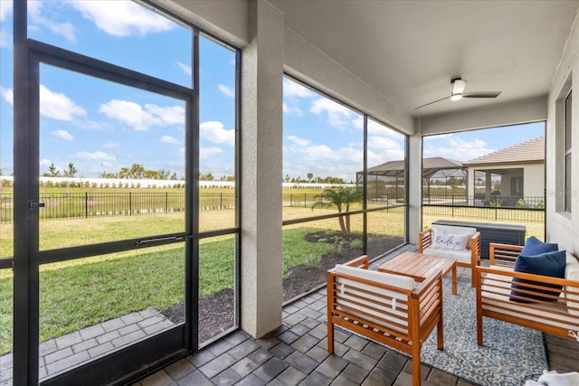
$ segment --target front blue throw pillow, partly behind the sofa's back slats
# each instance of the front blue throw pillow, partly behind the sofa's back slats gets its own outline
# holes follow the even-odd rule
[[[550,276],[553,278],[565,278],[565,250],[555,250],[553,252],[546,252],[537,256],[523,256],[520,255],[515,261],[515,272],[525,272],[532,273],[536,275]],[[551,287],[553,291],[548,289],[536,289],[528,288],[525,286],[517,286],[515,283],[527,283],[533,285],[539,285],[543,287]],[[523,292],[515,291],[514,289],[526,289],[527,291],[533,291],[536,293],[551,295],[558,297],[561,295],[561,286],[556,284],[546,284],[535,280],[525,280],[522,278],[513,278],[513,284],[511,285],[513,290],[510,292],[511,296],[517,297],[527,297],[529,300],[518,299],[515,297],[510,297],[509,300],[519,302],[519,303],[532,303],[533,300],[541,300],[546,302],[556,301],[556,299],[551,297],[541,297],[535,294],[526,294]]]

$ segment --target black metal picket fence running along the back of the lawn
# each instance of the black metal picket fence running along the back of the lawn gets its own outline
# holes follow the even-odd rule
[[[287,193],[283,206],[311,207],[319,200],[316,193]],[[388,195],[368,200],[368,205],[390,206],[400,200]],[[79,219],[100,216],[131,216],[185,210],[184,193],[43,193],[41,220]],[[0,193],[0,222],[13,221],[14,197]],[[422,198],[424,214],[489,221],[545,221],[543,197],[429,195]],[[199,197],[200,211],[233,209],[235,194],[209,193]]]

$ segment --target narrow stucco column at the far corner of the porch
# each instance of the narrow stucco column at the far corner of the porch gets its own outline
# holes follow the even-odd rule
[[[422,137],[408,137],[408,241],[418,243],[422,231]]]

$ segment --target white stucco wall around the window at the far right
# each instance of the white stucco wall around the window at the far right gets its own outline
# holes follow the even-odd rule
[[[556,101],[562,97],[562,92],[568,89],[570,80],[574,99],[572,106],[572,213],[565,213],[557,208],[561,200],[564,186],[561,174],[564,170],[564,151],[559,148],[557,137],[561,131],[556,108]],[[567,249],[579,254],[579,15],[565,44],[565,52],[559,62],[559,67],[553,77],[548,97],[548,118],[546,121],[546,239],[557,242],[560,249]],[[558,127],[557,127],[558,126]]]

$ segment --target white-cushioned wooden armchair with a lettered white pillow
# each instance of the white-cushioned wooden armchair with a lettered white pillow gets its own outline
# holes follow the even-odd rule
[[[418,251],[457,259],[457,266],[470,268],[474,287],[474,268],[480,263],[480,232],[476,228],[432,224],[418,234]]]

